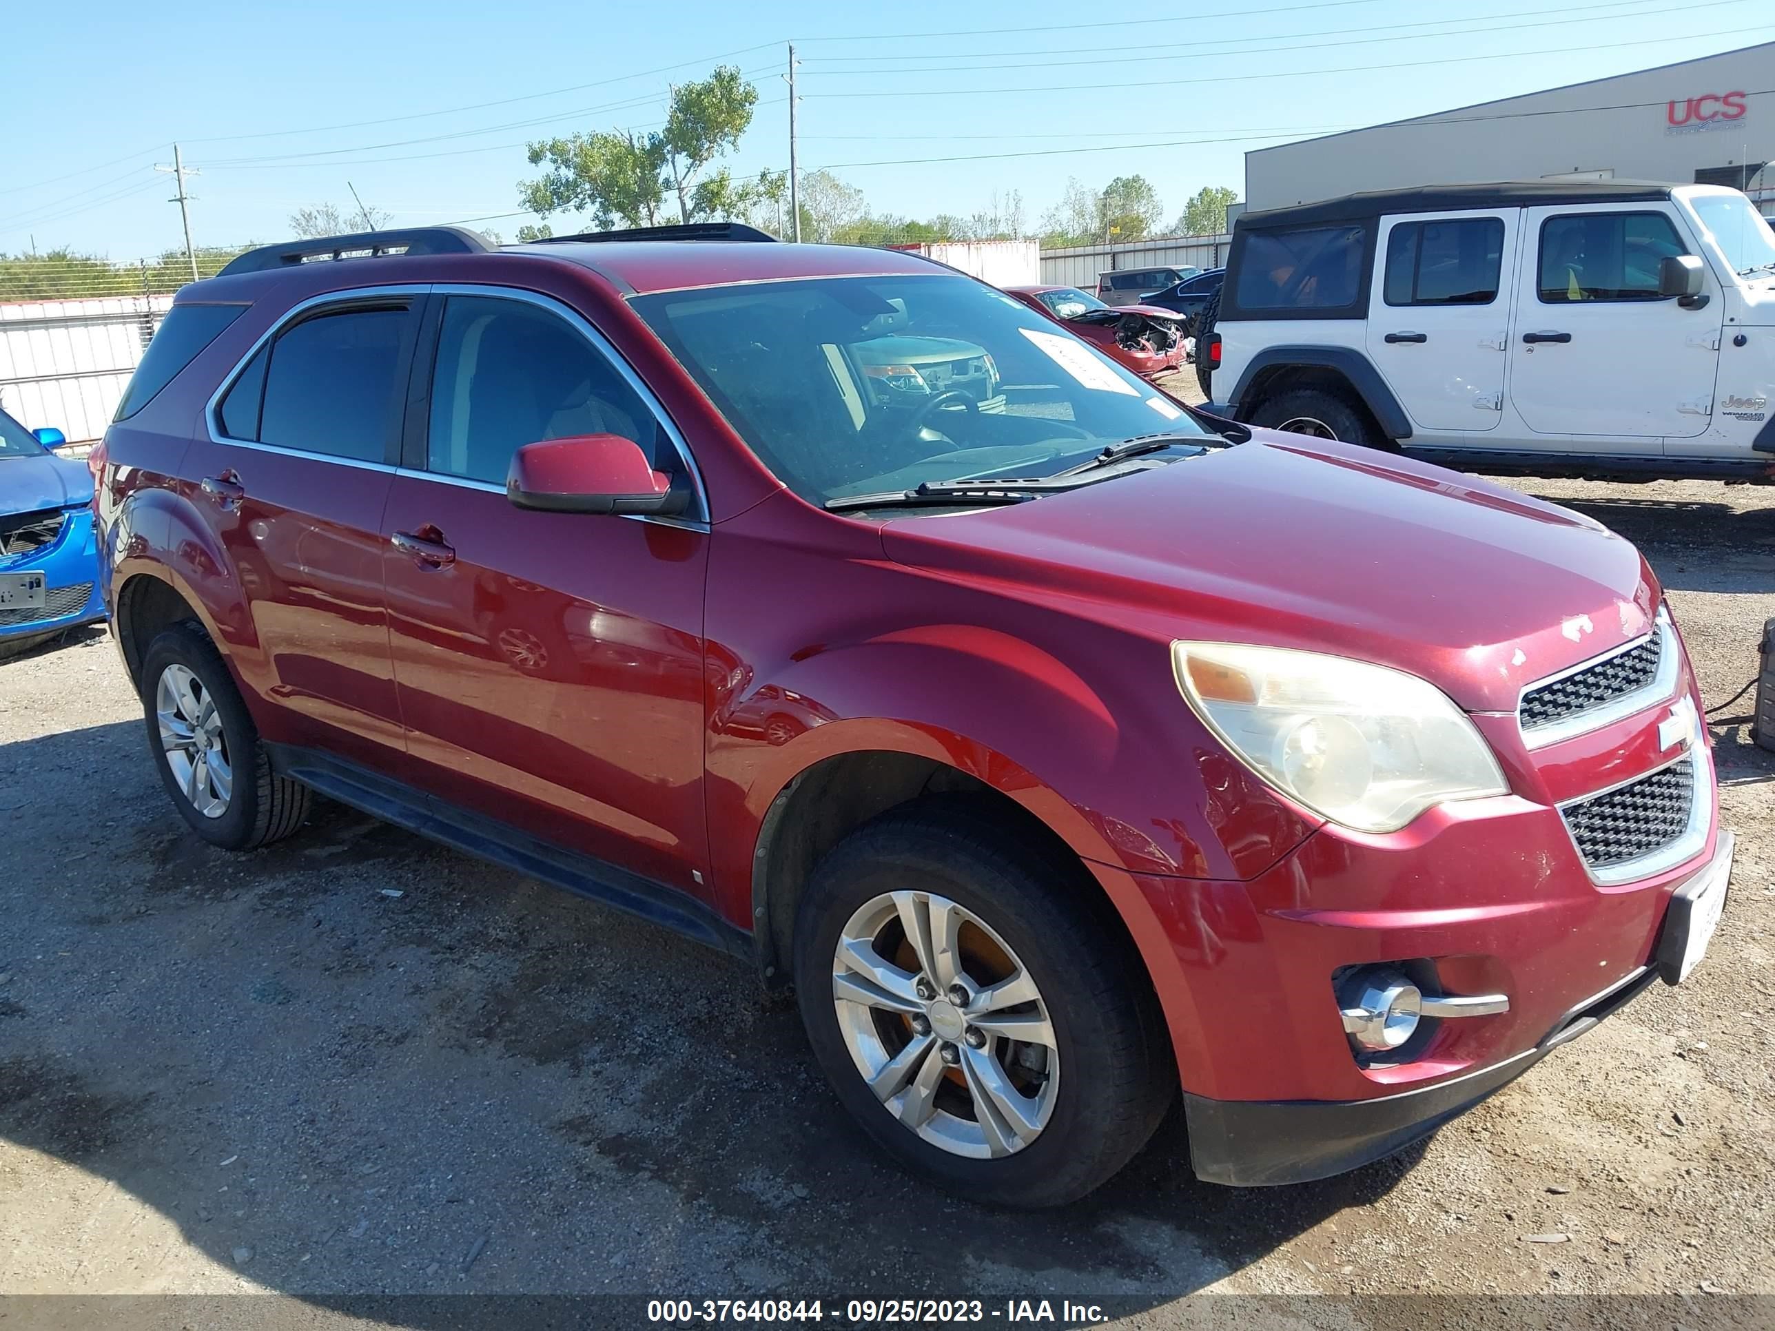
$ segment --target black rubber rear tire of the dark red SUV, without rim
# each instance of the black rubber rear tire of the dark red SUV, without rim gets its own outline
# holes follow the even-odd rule
[[[233,790],[227,809],[213,818],[192,804],[174,779],[162,749],[154,694],[169,666],[183,666],[197,676],[222,722],[225,754],[233,768]],[[172,625],[154,637],[147,644],[147,651],[142,653],[138,692],[154,770],[160,772],[160,781],[174,807],[197,836],[224,850],[254,850],[280,841],[302,827],[309,816],[309,788],[272,770],[264,745],[259,744],[259,729],[247,713],[234,678],[202,628],[195,623]]]

